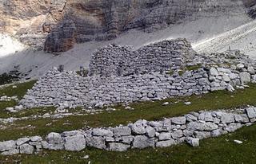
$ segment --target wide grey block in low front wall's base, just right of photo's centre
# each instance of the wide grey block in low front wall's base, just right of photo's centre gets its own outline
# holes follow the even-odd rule
[[[154,147],[154,139],[150,139],[145,135],[137,135],[134,137],[133,148],[143,149],[146,147]]]

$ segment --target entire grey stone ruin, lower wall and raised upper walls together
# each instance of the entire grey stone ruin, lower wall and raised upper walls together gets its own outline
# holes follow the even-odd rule
[[[244,88],[245,84],[256,82],[255,68],[255,62],[239,51],[206,56],[195,53],[184,39],[161,41],[137,51],[112,45],[94,53],[90,76],[51,70],[19,105],[54,106],[62,110],[163,100],[225,89],[233,92],[235,87]]]

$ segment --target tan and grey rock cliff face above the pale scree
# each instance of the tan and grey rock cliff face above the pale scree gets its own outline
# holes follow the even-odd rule
[[[75,43],[103,41],[129,29],[147,32],[220,14],[248,12],[255,0],[3,0],[0,31],[27,45],[62,52]]]

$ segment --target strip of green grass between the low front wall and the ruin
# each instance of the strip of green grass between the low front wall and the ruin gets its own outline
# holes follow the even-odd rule
[[[256,84],[250,84],[250,88],[238,90],[234,93],[219,91],[211,92],[201,96],[180,97],[155,102],[133,103],[134,111],[127,111],[118,106],[117,111],[102,112],[97,115],[68,116],[62,119],[35,119],[17,121],[8,125],[4,131],[0,131],[0,141],[7,139],[18,139],[22,136],[47,135],[48,133],[71,131],[85,126],[90,127],[114,127],[118,124],[127,124],[138,119],[158,120],[164,117],[184,115],[190,111],[230,109],[244,107],[246,105],[256,106]],[[172,104],[162,106],[164,102]],[[190,101],[191,105],[184,102]],[[175,103],[176,102],[176,103]],[[177,103],[178,102],[178,103]],[[40,112],[40,111],[38,111]],[[30,125],[34,128],[22,128]]]

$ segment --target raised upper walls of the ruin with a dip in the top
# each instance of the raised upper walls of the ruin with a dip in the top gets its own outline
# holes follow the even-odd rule
[[[195,52],[186,39],[160,41],[133,49],[109,45],[92,54],[90,75],[129,76],[178,69],[194,59]]]

